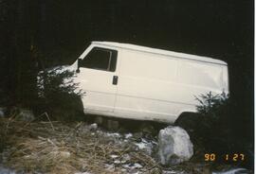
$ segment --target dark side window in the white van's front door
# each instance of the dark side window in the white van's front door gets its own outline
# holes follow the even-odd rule
[[[118,51],[94,47],[82,60],[82,67],[104,71],[116,71]]]

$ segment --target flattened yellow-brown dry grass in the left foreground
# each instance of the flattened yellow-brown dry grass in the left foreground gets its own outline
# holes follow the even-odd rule
[[[27,173],[90,172],[127,173],[123,164],[114,164],[111,155],[125,164],[139,163],[142,173],[160,171],[155,160],[138,151],[129,142],[117,142],[102,131],[91,131],[85,123],[64,125],[60,122],[25,123],[14,118],[1,118],[1,140],[9,146],[5,165]],[[115,159],[115,160],[117,160]],[[113,165],[111,169],[107,165]],[[156,169],[156,170],[155,170]]]

